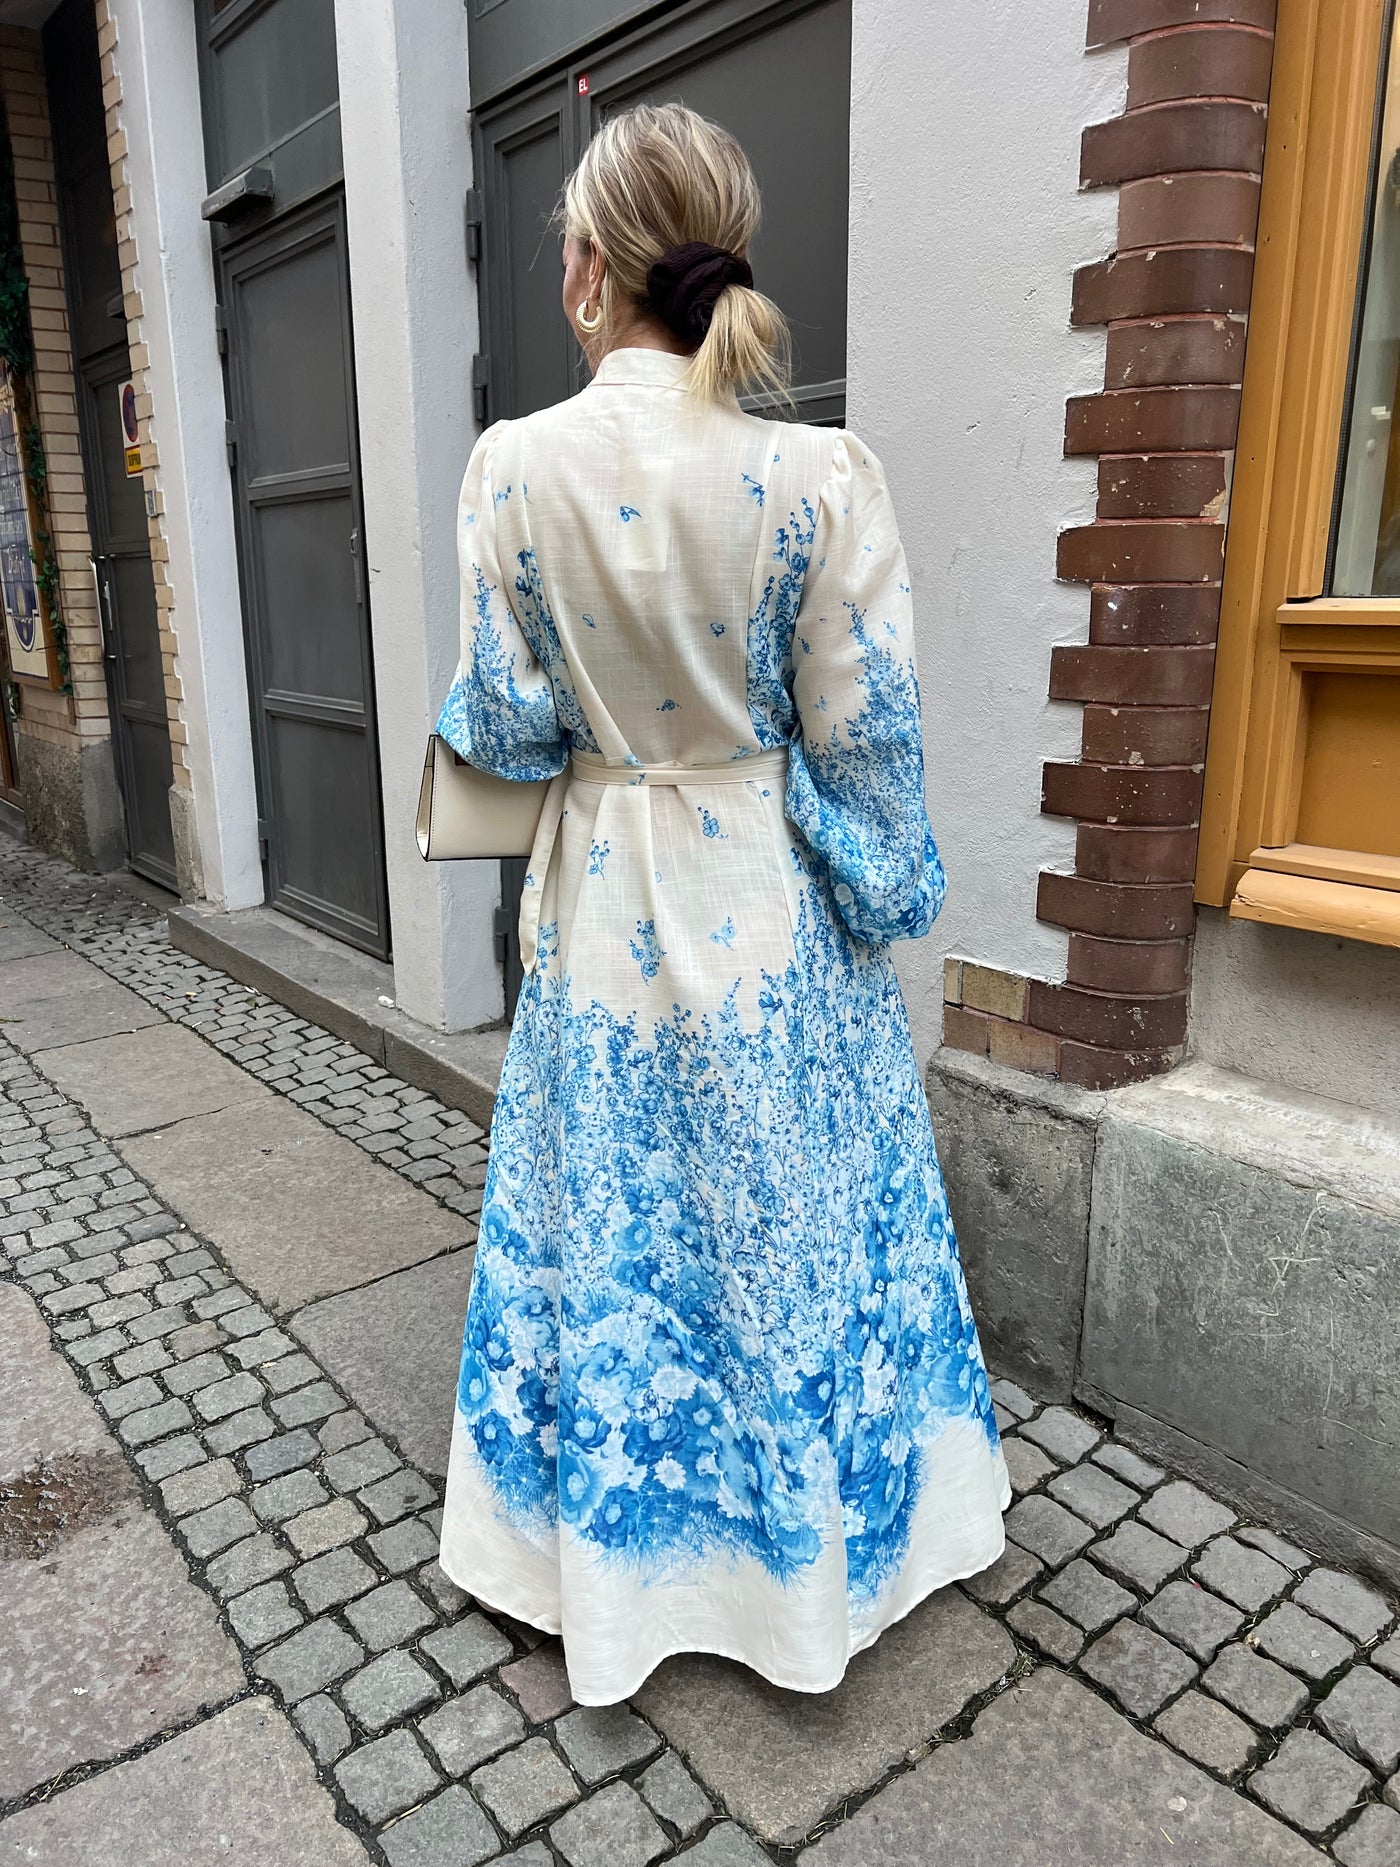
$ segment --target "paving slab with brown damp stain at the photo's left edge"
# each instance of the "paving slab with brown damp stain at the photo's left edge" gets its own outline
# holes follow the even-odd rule
[[[62,1518],[30,1510],[17,1525],[24,1490],[0,1499],[9,1531],[0,1540],[0,1798],[11,1798],[217,1705],[245,1675],[213,1602],[142,1512],[91,1400],[13,1286],[0,1290],[0,1423],[6,1492],[35,1445],[67,1481]]]

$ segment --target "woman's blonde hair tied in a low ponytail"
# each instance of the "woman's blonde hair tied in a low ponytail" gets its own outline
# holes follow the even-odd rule
[[[762,200],[749,157],[719,123],[685,105],[633,105],[607,118],[564,189],[569,239],[592,243],[605,263],[603,327],[622,304],[650,310],[646,274],[676,246],[704,241],[741,260],[758,232]],[[762,291],[726,286],[685,385],[722,400],[767,390],[788,401],[791,338]]]

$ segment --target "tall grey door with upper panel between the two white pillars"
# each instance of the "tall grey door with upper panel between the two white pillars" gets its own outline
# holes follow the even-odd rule
[[[200,0],[267,898],[388,956],[332,0]]]

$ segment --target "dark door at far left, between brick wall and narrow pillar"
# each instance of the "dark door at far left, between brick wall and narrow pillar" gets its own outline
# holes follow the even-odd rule
[[[127,474],[121,385],[131,375],[116,248],[97,21],[65,0],[45,26],[58,218],[82,478],[103,612],[112,751],[134,870],[175,887],[170,831],[170,724],[146,525],[146,484]]]

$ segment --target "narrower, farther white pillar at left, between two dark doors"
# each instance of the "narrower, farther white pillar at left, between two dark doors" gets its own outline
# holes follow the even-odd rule
[[[200,218],[194,9],[189,0],[110,4],[200,864],[217,907],[252,907],[263,872],[215,273]]]

